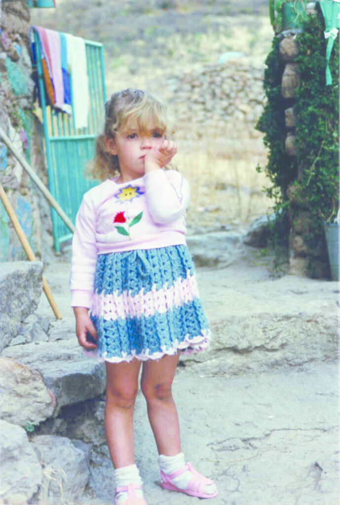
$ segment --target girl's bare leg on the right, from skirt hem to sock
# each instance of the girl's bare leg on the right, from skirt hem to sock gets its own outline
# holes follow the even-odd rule
[[[172,381],[179,353],[163,356],[159,361],[143,363],[141,390],[147,400],[148,416],[159,454],[175,456],[181,452],[176,405],[172,397]]]

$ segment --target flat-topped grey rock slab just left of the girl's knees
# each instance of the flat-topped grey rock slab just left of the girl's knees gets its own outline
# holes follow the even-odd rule
[[[64,405],[99,396],[106,387],[104,365],[86,357],[76,339],[15,345],[3,356],[39,371],[56,396],[55,416]]]

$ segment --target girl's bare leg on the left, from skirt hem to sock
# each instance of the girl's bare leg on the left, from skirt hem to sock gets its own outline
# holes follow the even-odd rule
[[[133,410],[141,362],[106,362],[105,433],[115,469],[133,465]]]

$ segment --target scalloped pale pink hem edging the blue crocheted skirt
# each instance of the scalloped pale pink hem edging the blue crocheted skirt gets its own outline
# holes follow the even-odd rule
[[[161,351],[150,352],[148,349],[140,354],[132,351],[131,354],[125,355],[122,352],[122,356],[113,356],[109,357],[107,355],[102,355],[96,350],[87,351],[84,350],[86,356],[90,358],[94,358],[96,361],[100,363],[109,362],[109,363],[130,363],[132,360],[136,359],[139,361],[148,361],[155,360],[158,361],[163,356],[175,356],[177,352],[180,350],[181,354],[184,356],[193,354],[193,352],[202,352],[203,350],[208,349],[209,343],[211,340],[211,332],[207,330],[204,336],[199,335],[195,338],[191,338],[190,340],[187,337],[182,342],[174,342],[172,347],[168,349],[162,349]]]

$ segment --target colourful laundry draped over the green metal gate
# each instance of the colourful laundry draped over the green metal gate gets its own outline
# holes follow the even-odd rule
[[[43,80],[50,105],[73,114],[75,128],[88,126],[89,90],[85,41],[69,33],[32,26],[33,63],[37,63],[38,35]]]

